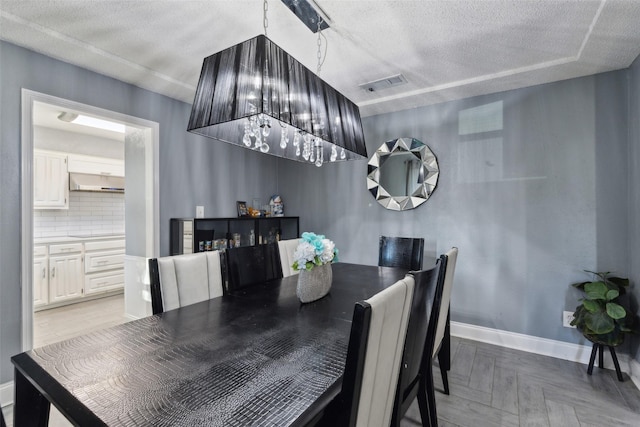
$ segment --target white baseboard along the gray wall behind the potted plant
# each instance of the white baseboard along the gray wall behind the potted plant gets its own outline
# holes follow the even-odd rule
[[[579,362],[585,365],[589,364],[589,357],[591,356],[591,346],[571,344],[466,323],[451,322],[451,335],[571,362]],[[640,389],[640,363],[626,354],[616,353],[616,355],[620,363],[620,370],[629,374],[634,384]],[[613,369],[613,360],[608,352],[605,352],[604,363],[605,366]]]

